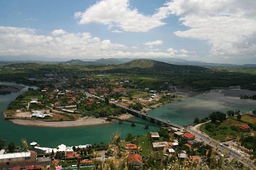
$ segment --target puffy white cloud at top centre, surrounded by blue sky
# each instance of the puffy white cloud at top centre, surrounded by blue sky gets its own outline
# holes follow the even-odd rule
[[[76,12],[74,17],[79,18],[79,24],[99,23],[122,28],[124,31],[146,32],[152,28],[163,26],[161,20],[166,15],[157,13],[148,16],[132,9],[129,0],[101,0],[87,8],[83,13]]]

